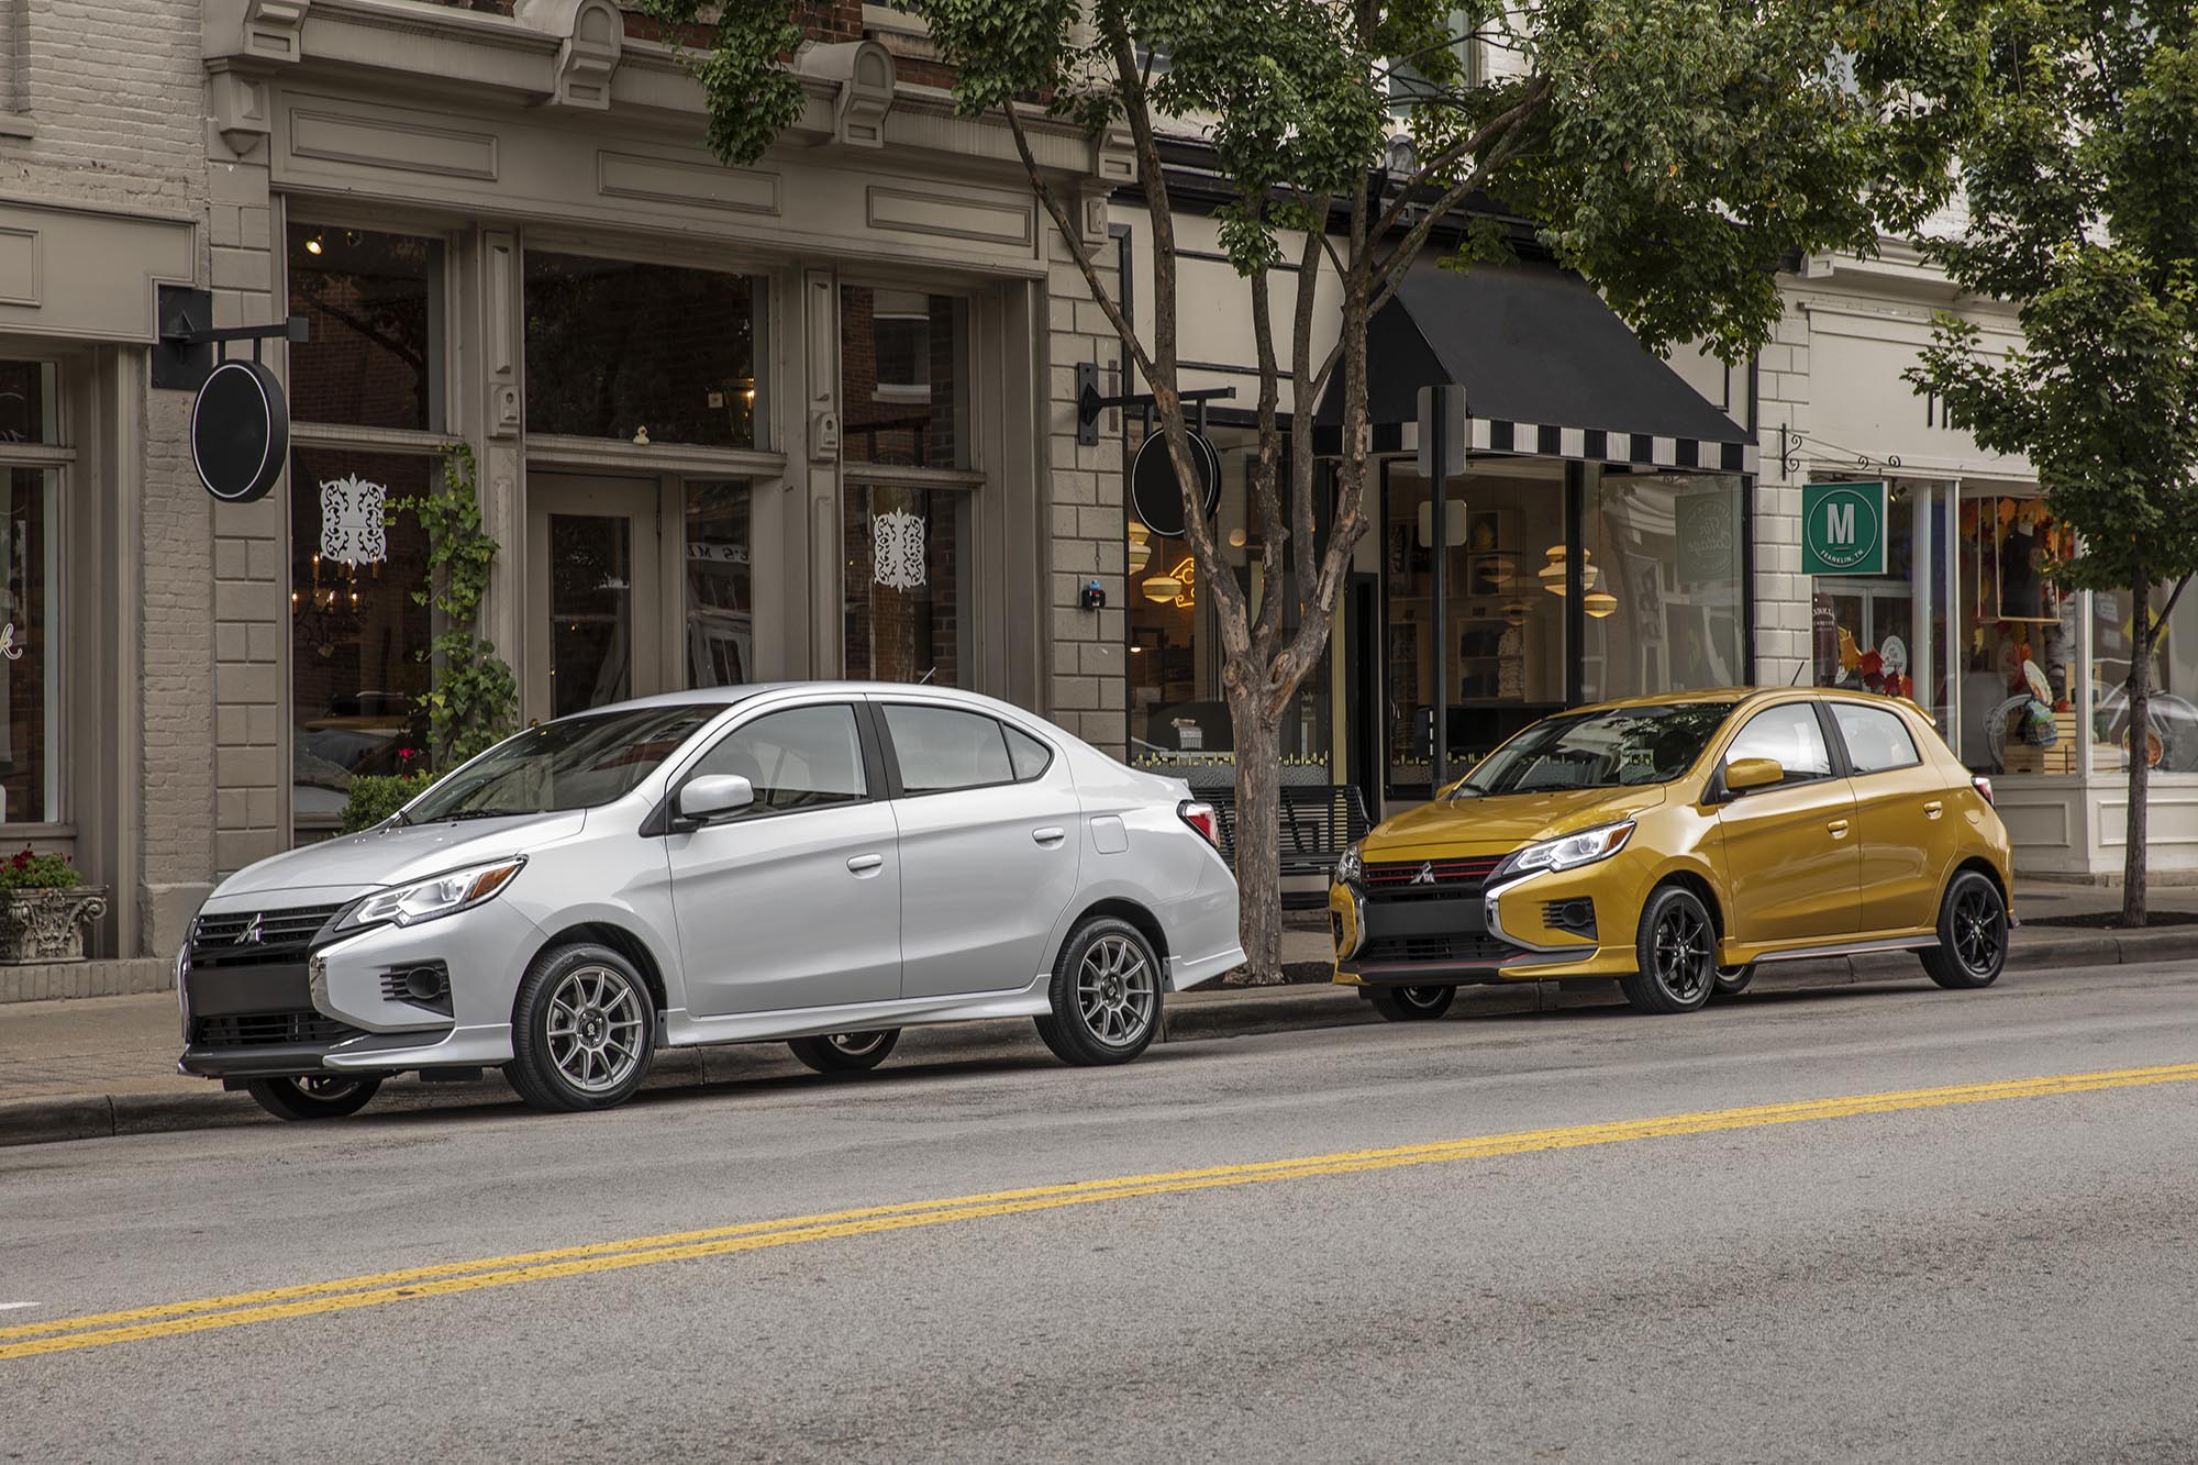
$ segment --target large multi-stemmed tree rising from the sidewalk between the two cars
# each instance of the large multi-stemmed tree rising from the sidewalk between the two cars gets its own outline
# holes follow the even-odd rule
[[[1457,229],[1468,202],[1536,220],[1541,242],[1594,282],[1642,341],[1699,339],[1736,361],[1778,319],[1774,271],[1787,251],[1868,251],[1873,189],[1910,200],[1943,180],[1936,119],[1888,117],[1875,101],[1884,77],[1906,75],[1928,53],[1932,0],[901,4],[930,22],[954,68],[956,106],[996,114],[1013,132],[1031,189],[1156,398],[1198,583],[1218,603],[1253,981],[1277,979],[1281,966],[1281,717],[1319,664],[1367,532],[1367,323],[1435,231],[1448,231],[1444,249],[1459,240],[1455,253],[1468,262],[1503,253],[1501,231]],[[670,24],[706,11],[701,0],[642,7]],[[1508,64],[1481,75],[1466,64],[1468,40]],[[796,112],[785,57],[798,42],[782,4],[725,7],[717,20],[697,75],[710,145],[725,161],[752,161]],[[1044,112],[1095,134],[1128,132],[1150,216],[1150,339],[1095,264],[1077,200],[1033,156],[1029,123]],[[1400,130],[1413,163],[1391,172],[1389,139]],[[1224,563],[1196,495],[1161,163],[1169,132],[1196,132],[1233,191],[1220,235],[1244,282],[1259,370],[1246,508],[1259,528],[1266,594],[1257,601]],[[1884,191],[1895,183],[1897,194]],[[1314,301],[1323,273],[1336,306]],[[1286,341],[1270,317],[1277,275],[1292,293]],[[1314,356],[1321,308],[1341,310],[1341,337]],[[1312,407],[1332,381],[1343,451],[1323,475]],[[1317,495],[1325,495],[1325,541]]]

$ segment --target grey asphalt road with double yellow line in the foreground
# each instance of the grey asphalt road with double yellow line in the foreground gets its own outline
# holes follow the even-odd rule
[[[0,1150],[0,1458],[2191,1461],[2189,977]]]

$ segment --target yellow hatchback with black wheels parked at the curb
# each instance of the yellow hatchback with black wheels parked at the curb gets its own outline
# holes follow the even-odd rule
[[[1380,823],[1328,893],[1336,981],[1433,1018],[1464,983],[1611,977],[1692,1012],[1763,961],[2007,961],[2007,827],[1910,702],[1692,691],[1547,717]]]

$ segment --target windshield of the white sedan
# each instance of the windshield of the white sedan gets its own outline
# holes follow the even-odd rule
[[[545,722],[510,737],[404,809],[407,825],[591,809],[622,798],[723,702],[637,706]]]

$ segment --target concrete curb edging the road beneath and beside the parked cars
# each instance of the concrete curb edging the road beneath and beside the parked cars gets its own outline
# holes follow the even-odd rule
[[[2007,955],[2016,972],[2077,974],[2103,966],[2198,959],[2198,926],[2161,930],[2057,930],[2029,926]],[[1207,1043],[1251,1038],[1314,1027],[1356,1027],[1380,1016],[1356,990],[1330,985],[1323,963],[1292,963],[1299,981],[1277,988],[1207,988],[1187,992],[1165,1007],[1163,1043]],[[1303,981],[1306,977],[1314,981]],[[1752,992],[1798,992],[1860,981],[1921,981],[1910,952],[1789,961],[1765,966]],[[1624,996],[1616,981],[1532,981],[1462,988],[1453,1007],[1459,1016],[1517,1016],[1576,1007],[1613,1007]],[[648,1089],[701,1089],[739,1078],[739,1067],[719,1049],[679,1049],[657,1056]],[[464,1084],[404,1082],[378,1095],[382,1109],[451,1109],[455,1104],[514,1104],[501,1078]],[[95,1093],[51,1100],[0,1102],[0,1148],[55,1144],[66,1139],[110,1139],[231,1124],[275,1124],[244,1093]]]

